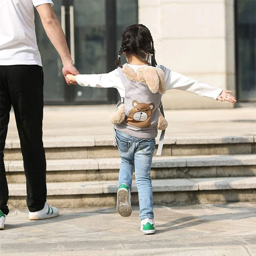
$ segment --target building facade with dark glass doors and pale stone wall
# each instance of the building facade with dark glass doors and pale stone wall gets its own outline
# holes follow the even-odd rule
[[[232,90],[240,102],[256,101],[256,0],[58,0],[54,4],[80,73],[113,70],[123,29],[139,22],[152,33],[159,64]],[[66,85],[60,58],[38,15],[35,22],[46,104],[118,100],[115,89]],[[233,107],[178,90],[168,91],[163,103],[169,109]]]

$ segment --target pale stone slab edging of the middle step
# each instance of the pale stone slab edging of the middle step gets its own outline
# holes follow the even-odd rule
[[[114,158],[48,159],[47,171],[113,170],[119,169],[121,160]],[[204,156],[154,156],[152,168],[194,166],[240,166],[256,165],[256,154],[249,155],[204,155]],[[7,172],[24,171],[23,161],[5,163]]]

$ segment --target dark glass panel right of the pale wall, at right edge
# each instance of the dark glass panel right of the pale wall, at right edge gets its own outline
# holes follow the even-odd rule
[[[236,86],[240,102],[256,101],[256,0],[236,0]]]

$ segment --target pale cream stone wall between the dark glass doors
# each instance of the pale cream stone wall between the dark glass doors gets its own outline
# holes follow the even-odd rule
[[[235,92],[234,0],[139,0],[139,23],[151,31],[159,64]],[[178,90],[168,91],[163,103],[172,109],[234,106]]]

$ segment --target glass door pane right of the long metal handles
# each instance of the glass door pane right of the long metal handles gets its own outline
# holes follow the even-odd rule
[[[105,3],[75,0],[76,68],[81,74],[106,73]],[[107,101],[107,90],[76,85],[76,100]]]

